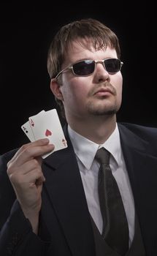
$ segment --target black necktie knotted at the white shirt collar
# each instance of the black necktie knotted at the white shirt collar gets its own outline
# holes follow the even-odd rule
[[[100,148],[96,159],[100,163],[98,192],[103,219],[102,237],[112,249],[125,255],[129,249],[129,228],[118,184],[110,169],[110,152]]]

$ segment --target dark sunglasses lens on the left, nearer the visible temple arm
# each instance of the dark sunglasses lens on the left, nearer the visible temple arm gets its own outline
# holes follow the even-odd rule
[[[93,73],[95,68],[94,61],[80,61],[73,65],[73,71],[75,75],[90,75]]]

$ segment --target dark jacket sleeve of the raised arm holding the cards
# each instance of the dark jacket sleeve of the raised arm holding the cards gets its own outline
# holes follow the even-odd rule
[[[7,176],[7,162],[12,155],[0,157],[0,255],[45,256],[49,243],[33,233]]]

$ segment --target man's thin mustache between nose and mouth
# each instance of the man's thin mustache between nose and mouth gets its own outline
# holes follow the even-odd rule
[[[117,95],[117,91],[115,90],[115,87],[112,86],[111,83],[102,83],[99,84],[99,86],[95,86],[93,87],[93,89],[91,89],[91,91],[89,91],[88,96],[93,96],[94,94],[96,94],[98,91],[110,91],[111,94],[113,94],[114,96]]]

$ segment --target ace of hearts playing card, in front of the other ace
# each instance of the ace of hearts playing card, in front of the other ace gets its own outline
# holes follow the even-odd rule
[[[29,118],[29,124],[34,135],[34,140],[48,138],[50,143],[55,146],[53,152],[67,147],[61,122],[55,109],[45,111],[42,115],[31,116]],[[45,158],[51,153],[42,157]]]

